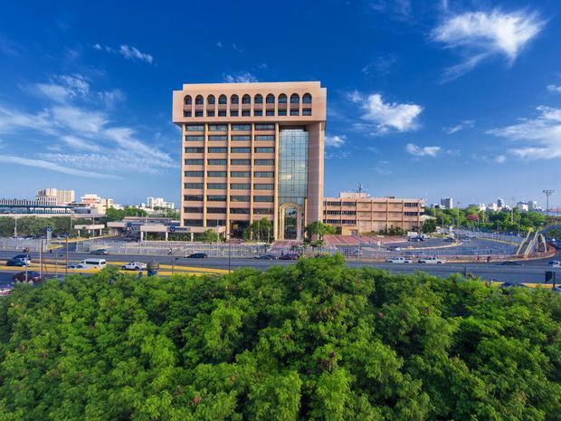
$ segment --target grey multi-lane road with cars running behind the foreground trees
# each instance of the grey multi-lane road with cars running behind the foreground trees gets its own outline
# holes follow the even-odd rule
[[[15,252],[0,252],[0,264],[5,263],[5,260],[13,257]],[[83,259],[92,257],[91,254],[77,254],[70,252],[70,262],[80,262]],[[39,260],[39,254],[32,253],[32,259],[34,262]],[[45,254],[46,258],[52,260],[55,258],[54,254]],[[60,262],[65,260],[64,250],[58,250],[56,255]],[[141,257],[138,255],[106,255],[106,256],[95,256],[103,257],[108,263],[111,262],[132,262],[132,261],[143,261],[148,262],[150,260],[156,260],[162,265],[170,265],[173,261],[176,268],[181,268],[188,266],[190,268],[206,268],[206,269],[228,269],[229,263],[228,259],[224,258],[207,258],[207,259],[185,259],[184,257],[170,257],[170,256],[145,256]],[[550,260],[561,261],[561,254],[557,252],[556,256],[544,260],[528,261],[522,263],[520,266],[505,266],[499,263],[445,263],[445,264],[423,264],[423,263],[411,263],[411,264],[399,264],[399,263],[371,263],[371,262],[360,262],[360,261],[349,261],[347,265],[349,267],[361,267],[361,266],[371,266],[378,269],[384,269],[391,271],[393,273],[414,273],[417,271],[423,271],[436,276],[448,276],[452,273],[472,273],[475,276],[479,276],[484,280],[496,280],[498,282],[532,282],[532,283],[542,283],[544,282],[545,272],[552,270],[551,266],[547,263]],[[230,267],[232,269],[238,267],[254,267],[260,270],[266,270],[267,268],[275,265],[288,265],[293,264],[294,261],[269,261],[269,260],[257,260],[257,259],[232,259],[230,262]],[[63,266],[62,266],[63,267]],[[15,269],[15,268],[14,268]],[[556,278],[558,282],[561,283],[561,268],[553,269],[557,274]],[[60,270],[60,272],[62,272]],[[14,272],[8,272],[3,270],[0,272],[0,282],[9,282]]]

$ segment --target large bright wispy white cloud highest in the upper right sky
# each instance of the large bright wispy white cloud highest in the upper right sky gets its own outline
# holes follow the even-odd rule
[[[461,51],[464,62],[448,68],[444,79],[450,80],[471,71],[481,61],[502,55],[512,63],[521,50],[545,25],[536,13],[519,10],[503,13],[469,12],[448,15],[432,33],[433,40]]]

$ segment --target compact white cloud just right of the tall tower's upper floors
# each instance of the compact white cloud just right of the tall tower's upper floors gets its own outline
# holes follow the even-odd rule
[[[360,104],[365,110],[362,119],[374,123],[375,131],[378,133],[385,133],[391,129],[396,131],[418,129],[417,117],[423,111],[420,105],[384,102],[379,93],[364,96],[358,91],[351,92],[349,99]]]

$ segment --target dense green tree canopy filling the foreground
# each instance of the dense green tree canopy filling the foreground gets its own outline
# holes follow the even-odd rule
[[[0,420],[558,420],[561,298],[347,269],[105,270],[0,300]]]

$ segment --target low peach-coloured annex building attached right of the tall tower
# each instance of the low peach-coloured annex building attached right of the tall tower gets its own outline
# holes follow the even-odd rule
[[[341,234],[380,232],[390,228],[411,231],[421,227],[423,200],[395,197],[371,197],[366,193],[342,192],[326,197],[323,221],[338,226]]]

